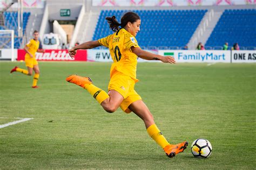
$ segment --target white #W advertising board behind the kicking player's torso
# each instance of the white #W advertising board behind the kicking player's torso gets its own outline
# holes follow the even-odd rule
[[[148,52],[158,54],[158,51],[146,50]],[[87,61],[113,62],[109,49],[87,49]],[[156,60],[143,60],[138,58],[138,62],[160,62]]]

